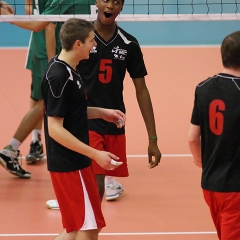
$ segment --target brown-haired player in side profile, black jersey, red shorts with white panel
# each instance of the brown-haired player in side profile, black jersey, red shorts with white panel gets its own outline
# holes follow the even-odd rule
[[[96,46],[93,30],[93,24],[86,20],[73,18],[63,24],[62,50],[50,60],[42,83],[47,166],[64,228],[56,240],[98,239],[105,221],[91,158],[109,170],[117,167],[113,162],[119,159],[88,145],[87,118],[103,118],[116,127],[125,122],[119,110],[87,106],[86,90],[76,66]]]

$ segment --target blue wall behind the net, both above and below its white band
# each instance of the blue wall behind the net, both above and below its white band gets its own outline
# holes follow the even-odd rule
[[[227,4],[229,0],[216,1],[209,4],[208,10],[205,0],[196,0],[195,13],[234,12],[235,4]],[[8,0],[10,4],[16,0]],[[15,11],[17,14],[24,14],[25,0],[18,0]],[[125,0],[123,13],[151,13],[161,14],[163,4],[159,0],[152,0],[152,7],[148,8],[148,0],[134,1]],[[162,2],[162,1],[161,1]],[[165,1],[167,2],[167,1]],[[164,13],[191,13],[192,6],[189,0],[182,0],[184,5],[176,5],[176,1],[169,0],[164,3]],[[222,2],[225,4],[217,4]],[[138,4],[138,5],[137,5]],[[240,7],[239,7],[240,9]],[[198,22],[119,22],[119,25],[134,35],[141,45],[219,45],[222,39],[229,33],[240,30],[240,21],[198,21]],[[20,29],[9,23],[0,23],[0,47],[26,47],[28,45],[30,31]]]

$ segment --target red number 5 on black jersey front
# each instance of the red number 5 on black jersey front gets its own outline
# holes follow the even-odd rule
[[[102,83],[109,83],[112,80],[112,60],[101,59],[99,66],[99,81]]]

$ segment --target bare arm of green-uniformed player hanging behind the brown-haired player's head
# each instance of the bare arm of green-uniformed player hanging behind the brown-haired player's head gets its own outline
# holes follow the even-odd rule
[[[48,60],[56,55],[56,31],[57,24],[49,23],[45,28],[46,50]]]

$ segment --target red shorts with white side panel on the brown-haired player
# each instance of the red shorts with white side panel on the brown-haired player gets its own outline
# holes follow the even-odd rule
[[[50,172],[63,228],[73,232],[106,226],[92,166],[71,172]]]

